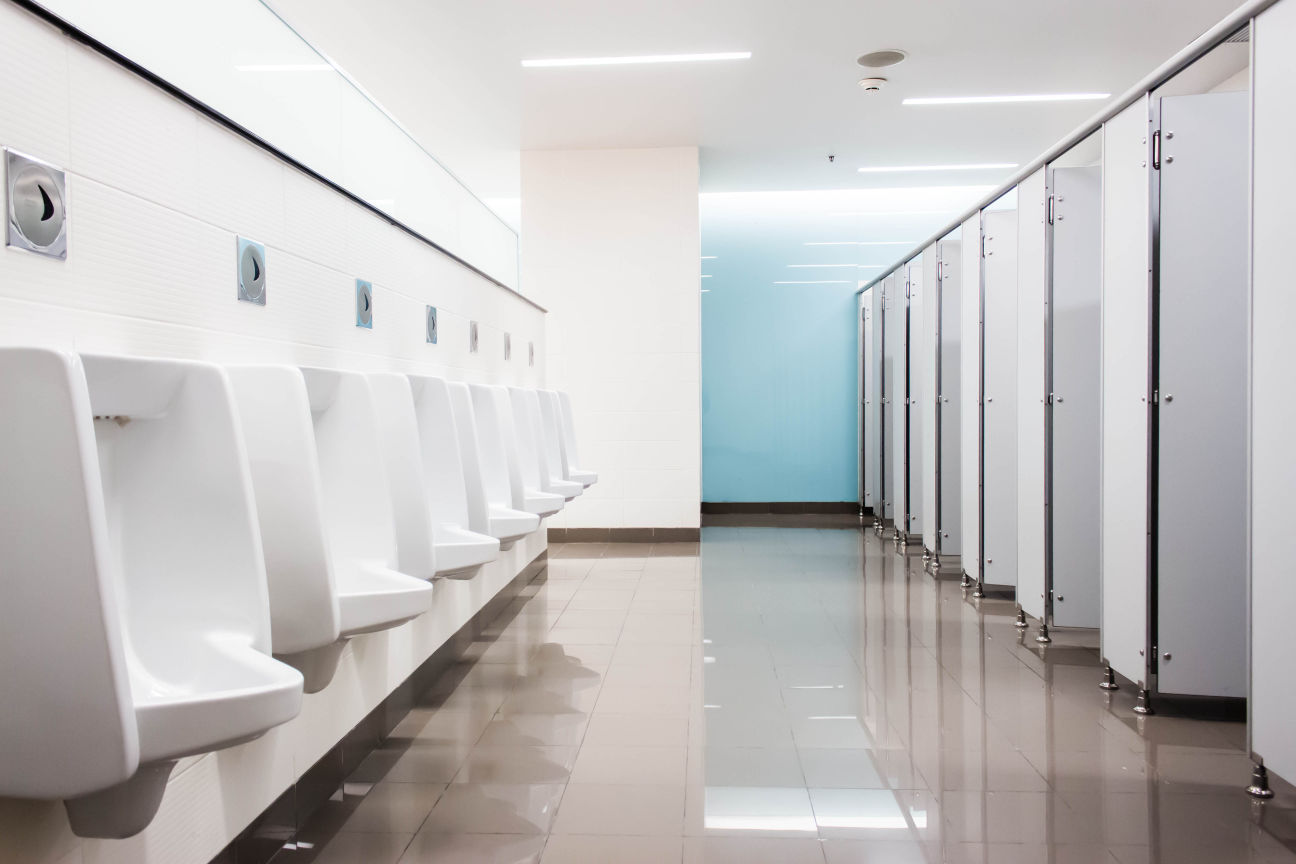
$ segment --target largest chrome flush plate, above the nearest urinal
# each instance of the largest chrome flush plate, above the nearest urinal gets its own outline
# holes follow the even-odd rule
[[[9,219],[5,245],[67,258],[67,179],[62,170],[5,150]]]

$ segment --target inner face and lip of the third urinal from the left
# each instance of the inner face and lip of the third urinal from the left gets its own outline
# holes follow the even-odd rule
[[[446,382],[410,376],[410,389],[422,453],[422,477],[419,479],[432,512],[437,575],[469,579],[483,563],[499,557],[499,540],[470,527],[490,525],[476,459],[472,472],[476,482],[469,484]]]

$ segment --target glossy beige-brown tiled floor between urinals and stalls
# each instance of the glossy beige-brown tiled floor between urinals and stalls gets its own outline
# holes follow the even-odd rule
[[[872,532],[555,547],[292,859],[1296,861],[1240,723],[1139,718],[1055,636]]]

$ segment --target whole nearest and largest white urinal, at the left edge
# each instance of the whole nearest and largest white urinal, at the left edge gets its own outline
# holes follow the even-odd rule
[[[215,365],[0,348],[0,795],[149,824],[181,756],[301,709],[270,657],[242,435]],[[18,658],[22,658],[21,661]]]

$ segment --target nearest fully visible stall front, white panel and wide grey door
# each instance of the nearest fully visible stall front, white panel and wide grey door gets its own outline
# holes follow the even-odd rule
[[[1102,640],[1143,712],[1247,693],[1249,96],[1198,91],[1104,128]]]

